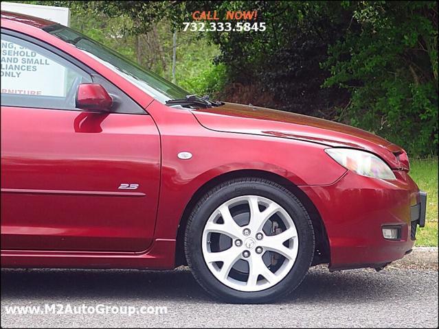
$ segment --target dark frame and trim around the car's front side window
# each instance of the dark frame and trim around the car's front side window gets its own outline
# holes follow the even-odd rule
[[[120,110],[120,111],[117,111],[117,112],[110,112],[111,114],[142,114],[142,115],[146,114],[146,115],[149,115],[149,113],[146,111],[146,109],[142,108],[142,106],[140,106],[140,104],[137,103],[137,101],[135,101],[132,97],[130,97],[130,95],[126,94],[118,86],[116,86],[115,84],[113,84],[112,82],[107,80],[105,77],[103,77],[102,75],[100,75],[99,73],[97,73],[96,71],[91,69],[90,66],[84,64],[83,62],[80,62],[80,60],[77,60],[76,58],[74,58],[73,56],[69,55],[65,51],[63,51],[61,49],[58,49],[57,47],[54,47],[54,46],[50,45],[49,43],[47,43],[47,42],[45,42],[43,40],[40,40],[40,39],[35,38],[33,36],[30,36],[28,34],[22,34],[20,32],[14,31],[12,29],[6,29],[4,27],[1,27],[1,34],[5,34],[6,36],[11,36],[13,38],[18,38],[18,39],[24,40],[26,42],[30,42],[33,45],[36,45],[38,47],[41,47],[41,48],[45,49],[46,51],[54,53],[55,56],[63,58],[63,60],[66,60],[71,65],[76,66],[81,71],[84,71],[85,73],[87,73],[91,77],[91,80],[93,82],[95,82],[96,77],[98,77],[98,80],[100,80],[99,82],[104,86],[104,88],[109,88],[111,90],[116,90],[116,92],[117,92],[116,96],[117,96],[118,99],[122,99],[122,102],[123,101],[128,101],[130,103],[134,103],[135,104],[135,106],[126,106],[126,109],[124,109],[124,110]],[[3,105],[1,105],[1,106],[3,106]],[[10,106],[10,105],[5,105],[5,106],[14,107],[14,108],[36,108],[36,109],[38,108],[38,109],[40,109],[40,107]],[[66,108],[41,108],[41,109],[45,109],[45,110],[62,110],[62,111],[76,111],[76,112],[93,112],[93,111],[88,111],[88,110],[82,110],[80,108],[71,108],[71,109],[66,109]]]

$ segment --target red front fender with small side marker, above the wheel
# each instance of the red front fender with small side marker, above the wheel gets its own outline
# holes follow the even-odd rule
[[[161,188],[156,239],[175,239],[181,215],[190,199],[210,180],[243,169],[262,170],[293,184],[327,185],[346,169],[329,158],[327,147],[289,138],[214,132],[193,114],[153,102],[147,108],[161,135]],[[179,152],[192,158],[181,160]]]

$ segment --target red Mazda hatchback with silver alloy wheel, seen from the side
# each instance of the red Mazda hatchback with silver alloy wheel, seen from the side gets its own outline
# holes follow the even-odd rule
[[[1,266],[173,269],[270,302],[312,265],[408,254],[426,195],[363,130],[210,101],[50,21],[1,13]]]

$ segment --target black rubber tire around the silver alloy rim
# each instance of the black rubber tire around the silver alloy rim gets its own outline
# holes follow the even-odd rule
[[[203,258],[203,229],[218,206],[241,195],[259,195],[278,203],[289,213],[297,230],[299,249],[291,271],[273,287],[262,291],[243,292],[227,287],[211,273]],[[299,286],[314,254],[314,232],[311,219],[299,199],[289,190],[261,178],[238,178],[212,188],[196,204],[185,231],[185,256],[197,282],[210,295],[230,303],[259,304],[285,297]]]

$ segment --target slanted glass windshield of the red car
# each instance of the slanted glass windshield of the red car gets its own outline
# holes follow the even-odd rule
[[[57,36],[65,42],[69,42],[76,48],[84,51],[113,71],[116,71],[127,80],[153,96],[161,103],[170,99],[184,99],[188,93],[183,88],[168,82],[153,71],[143,69],[138,64],[131,62],[119,53],[101,45],[84,34],[63,25],[54,24],[43,28],[45,32]]]

